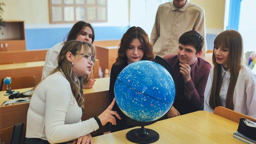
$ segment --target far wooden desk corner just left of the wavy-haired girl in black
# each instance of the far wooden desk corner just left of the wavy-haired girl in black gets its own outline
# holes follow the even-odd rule
[[[116,62],[118,56],[119,46],[99,46],[95,45],[95,55],[96,58],[100,60],[100,67],[103,74],[105,74],[105,69],[111,70],[113,63]]]

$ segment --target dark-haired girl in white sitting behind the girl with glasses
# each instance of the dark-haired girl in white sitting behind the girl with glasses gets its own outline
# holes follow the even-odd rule
[[[74,24],[74,26],[71,28],[70,32],[67,35],[67,41],[70,40],[77,40],[81,42],[88,42],[90,44],[93,43],[95,38],[93,27],[90,23],[86,23],[84,21],[78,21]],[[58,54],[60,53],[63,45],[65,42],[60,42],[53,46],[51,49],[49,49],[46,53],[45,62],[44,62],[44,68],[42,72],[42,79],[47,77],[54,68],[58,66],[57,58]],[[93,77],[93,72],[91,72],[91,75],[88,77],[85,77],[83,80],[83,88],[92,88],[95,79]]]

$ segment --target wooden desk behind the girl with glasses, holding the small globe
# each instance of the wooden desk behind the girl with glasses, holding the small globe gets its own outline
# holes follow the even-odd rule
[[[15,91],[25,92],[32,88],[22,88]],[[82,120],[92,118],[95,115],[99,115],[109,105],[109,77],[96,79],[93,88],[84,89],[84,111]],[[5,91],[0,91],[0,102],[5,102],[8,96],[4,96]],[[29,102],[0,106],[0,130],[9,126],[26,122]],[[105,126],[93,132],[92,135],[98,135],[103,132],[109,131],[109,127]]]

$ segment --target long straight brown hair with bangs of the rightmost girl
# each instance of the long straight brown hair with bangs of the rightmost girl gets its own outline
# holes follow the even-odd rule
[[[228,86],[228,92],[226,96],[226,107],[229,109],[234,109],[233,95],[235,90],[235,85],[237,82],[237,77],[239,71],[242,67],[242,56],[243,56],[243,39],[239,32],[236,30],[225,30],[220,33],[214,40],[215,47],[223,46],[228,48],[228,67],[227,70],[230,71],[230,83]],[[209,105],[212,109],[217,106],[221,106],[220,100],[220,89],[222,85],[222,74],[221,74],[221,64],[216,63],[215,53],[212,54],[212,62],[214,64],[214,73],[212,80],[212,89],[209,97]]]

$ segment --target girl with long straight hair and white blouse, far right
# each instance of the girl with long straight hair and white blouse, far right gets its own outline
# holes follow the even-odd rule
[[[204,110],[224,106],[256,118],[256,75],[242,64],[243,40],[235,30],[225,30],[214,40]]]

